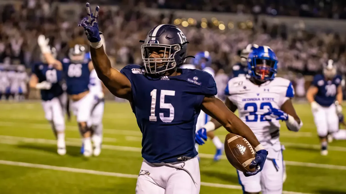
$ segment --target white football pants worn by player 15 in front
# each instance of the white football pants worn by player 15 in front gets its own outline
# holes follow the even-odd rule
[[[137,178],[136,194],[199,194],[201,177],[197,157],[178,164],[191,174],[182,169],[177,169],[167,164],[148,163],[143,160]]]

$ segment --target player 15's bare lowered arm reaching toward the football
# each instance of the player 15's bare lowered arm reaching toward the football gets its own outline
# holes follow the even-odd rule
[[[202,110],[216,119],[229,133],[244,137],[253,147],[260,145],[252,130],[231,112],[220,99],[215,96],[204,97]]]

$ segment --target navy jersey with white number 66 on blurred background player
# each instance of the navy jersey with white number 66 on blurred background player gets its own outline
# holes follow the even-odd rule
[[[80,94],[89,90],[90,70],[88,67],[90,59],[85,59],[83,63],[73,64],[70,59],[63,59],[63,71],[66,79],[67,94]]]

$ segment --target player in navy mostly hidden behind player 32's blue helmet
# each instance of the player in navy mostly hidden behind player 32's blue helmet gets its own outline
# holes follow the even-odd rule
[[[232,67],[232,77],[246,76],[247,72],[247,57],[253,48],[258,48],[258,45],[249,44],[245,49],[240,51],[240,62]]]

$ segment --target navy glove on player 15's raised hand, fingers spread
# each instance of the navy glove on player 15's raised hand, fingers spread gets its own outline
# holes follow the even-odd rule
[[[85,35],[88,37],[89,42],[100,42],[100,35],[102,32],[99,32],[99,24],[97,22],[97,17],[99,16],[99,6],[96,6],[95,13],[91,13],[90,4],[86,3],[86,13],[88,17],[84,17],[78,24],[82,26],[85,31]]]

